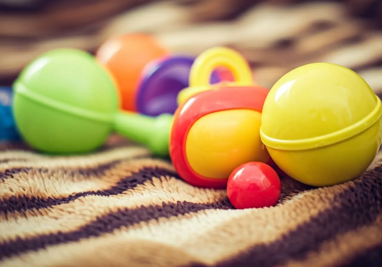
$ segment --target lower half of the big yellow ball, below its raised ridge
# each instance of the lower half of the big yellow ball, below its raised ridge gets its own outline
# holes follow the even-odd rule
[[[335,145],[310,150],[267,150],[290,177],[322,187],[347,182],[361,175],[375,158],[381,144],[381,123]]]

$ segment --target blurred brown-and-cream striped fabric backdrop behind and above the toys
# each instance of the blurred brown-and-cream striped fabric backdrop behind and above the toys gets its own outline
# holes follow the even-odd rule
[[[381,0],[0,0],[0,86],[45,51],[94,53],[112,36],[145,32],[174,53],[234,48],[264,87],[303,64],[331,62],[382,96],[381,30]]]

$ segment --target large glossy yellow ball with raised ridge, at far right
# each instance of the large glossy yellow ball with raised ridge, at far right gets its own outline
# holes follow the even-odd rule
[[[296,68],[272,87],[260,135],[294,179],[329,186],[367,169],[381,145],[380,99],[355,72],[330,63]]]

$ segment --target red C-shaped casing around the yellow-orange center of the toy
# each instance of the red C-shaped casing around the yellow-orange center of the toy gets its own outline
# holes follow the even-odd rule
[[[196,173],[186,158],[186,139],[193,124],[207,114],[230,110],[262,111],[269,90],[259,86],[219,87],[197,93],[180,105],[174,114],[170,137],[170,157],[178,174],[189,184],[204,188],[225,188],[227,179],[203,177]]]

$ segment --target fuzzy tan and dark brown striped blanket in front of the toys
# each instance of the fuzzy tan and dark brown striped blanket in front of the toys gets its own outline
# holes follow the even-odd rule
[[[281,177],[277,205],[235,210],[136,146],[0,153],[0,266],[382,266],[382,156],[327,188]]]

